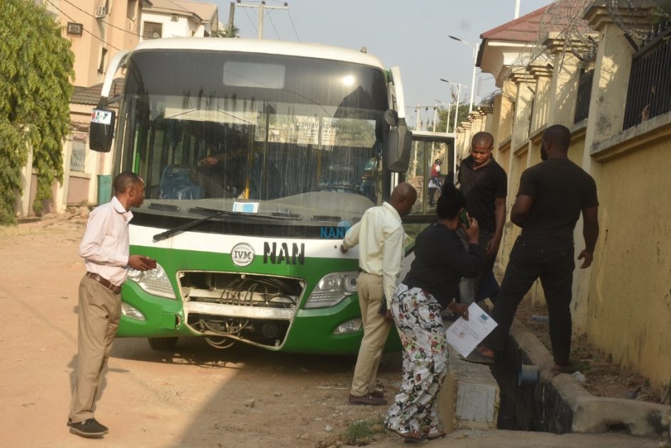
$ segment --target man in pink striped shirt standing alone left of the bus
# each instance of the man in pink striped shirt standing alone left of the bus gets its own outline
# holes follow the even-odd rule
[[[77,382],[68,427],[82,437],[103,437],[107,427],[93,418],[93,406],[121,315],[121,286],[128,268],[149,270],[155,261],[129,255],[131,207],[145,198],[145,183],[134,173],[114,178],[112,200],[93,210],[79,246],[86,274],[79,284]]]

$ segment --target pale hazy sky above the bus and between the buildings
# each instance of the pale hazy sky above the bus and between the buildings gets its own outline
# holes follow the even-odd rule
[[[226,24],[230,0],[203,0],[215,3],[219,21]],[[259,1],[243,0],[242,4]],[[515,0],[287,0],[285,9],[267,9],[264,39],[313,42],[359,50],[365,46],[386,68],[399,66],[403,78],[406,120],[416,123],[417,105],[421,120],[433,115],[431,106],[446,107],[451,101],[451,84],[462,84],[461,101],[468,103],[473,76],[471,43],[480,34],[511,21]],[[551,0],[520,0],[520,16],[552,3]],[[266,0],[267,6],[283,6],[284,1]],[[258,9],[237,7],[235,25],[240,37],[257,39]],[[496,90],[493,76],[476,71],[476,102]],[[454,88],[456,95],[456,87]],[[438,103],[440,101],[441,103]]]

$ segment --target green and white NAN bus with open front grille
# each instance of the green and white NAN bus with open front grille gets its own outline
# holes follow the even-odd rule
[[[359,350],[358,251],[339,245],[407,170],[398,68],[318,44],[145,40],[113,58],[91,115],[90,148],[112,143],[113,174],[146,185],[130,253],[157,260],[130,270],[118,337]]]

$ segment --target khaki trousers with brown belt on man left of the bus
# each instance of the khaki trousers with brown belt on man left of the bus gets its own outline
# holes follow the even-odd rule
[[[79,283],[78,314],[77,380],[70,405],[73,423],[93,418],[101,374],[119,326],[121,295],[84,275]]]

